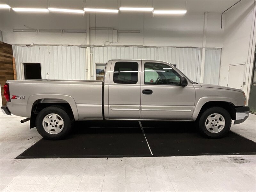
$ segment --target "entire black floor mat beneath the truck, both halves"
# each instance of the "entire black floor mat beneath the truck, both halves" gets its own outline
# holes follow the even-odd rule
[[[206,139],[193,123],[141,122],[153,156],[256,154],[256,143],[233,132]],[[152,156],[138,121],[76,123],[65,140],[39,140],[16,158]]]

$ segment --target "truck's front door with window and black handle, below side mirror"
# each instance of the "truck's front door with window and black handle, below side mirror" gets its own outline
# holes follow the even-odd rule
[[[194,111],[195,88],[180,85],[180,74],[171,65],[142,61],[141,119],[189,120]]]

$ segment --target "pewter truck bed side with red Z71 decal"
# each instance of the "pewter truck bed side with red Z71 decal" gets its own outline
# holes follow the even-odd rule
[[[8,80],[6,83],[10,85],[11,96],[7,107],[13,115],[30,117],[34,102],[45,98],[44,102],[49,99],[68,102],[75,110],[75,120],[102,119],[103,81]]]

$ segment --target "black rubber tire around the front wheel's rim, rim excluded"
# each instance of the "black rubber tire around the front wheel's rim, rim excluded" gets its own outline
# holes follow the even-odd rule
[[[206,129],[206,125],[205,125],[207,118],[214,113],[218,113],[218,114],[222,115],[225,119],[224,128],[220,132],[217,132],[217,133],[209,132]],[[231,116],[228,113],[228,111],[224,108],[212,107],[212,108],[208,108],[208,109],[204,110],[202,113],[200,113],[200,117],[198,120],[198,128],[199,128],[199,132],[205,137],[222,138],[228,133],[228,131],[230,130],[230,127],[231,127]]]

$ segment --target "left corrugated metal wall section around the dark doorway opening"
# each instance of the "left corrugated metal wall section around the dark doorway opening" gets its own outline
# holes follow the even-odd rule
[[[16,59],[17,79],[24,79],[23,63],[41,63],[42,79],[87,79],[86,48],[13,45],[12,49]]]

